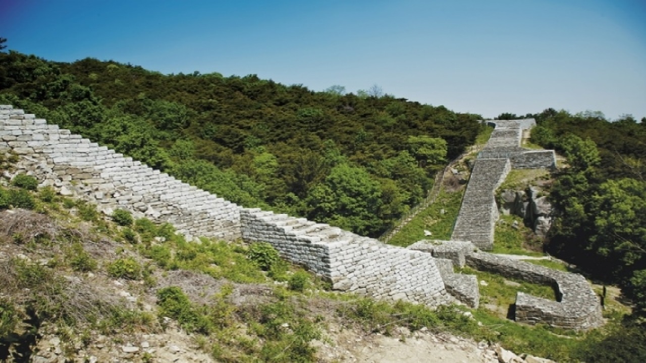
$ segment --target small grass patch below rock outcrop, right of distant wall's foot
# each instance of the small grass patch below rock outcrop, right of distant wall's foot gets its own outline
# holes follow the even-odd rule
[[[512,227],[514,220],[518,221],[518,229]],[[501,223],[503,221],[504,223]],[[534,236],[529,227],[523,225],[519,216],[500,216],[495,223],[493,253],[526,254],[527,256],[543,256],[543,253],[532,251],[527,247],[539,249],[541,242]]]

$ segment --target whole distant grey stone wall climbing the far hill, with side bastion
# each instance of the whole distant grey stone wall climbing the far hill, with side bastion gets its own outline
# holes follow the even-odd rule
[[[495,190],[511,169],[556,167],[554,150],[525,150],[523,131],[536,125],[534,119],[488,121],[495,129],[479,152],[464,192],[452,240],[470,241],[477,247],[494,247],[494,227],[498,219]]]

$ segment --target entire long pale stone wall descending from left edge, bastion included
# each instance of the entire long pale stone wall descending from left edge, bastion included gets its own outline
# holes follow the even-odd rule
[[[33,114],[0,106],[0,151],[21,158],[18,172],[65,195],[96,203],[107,214],[129,209],[172,223],[189,237],[269,242],[282,256],[328,278],[335,289],[375,298],[448,304],[435,260],[304,218],[243,209],[159,171],[47,125]]]

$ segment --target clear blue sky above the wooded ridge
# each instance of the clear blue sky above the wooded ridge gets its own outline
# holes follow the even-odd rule
[[[496,116],[646,116],[646,0],[0,0],[10,49],[384,92]]]

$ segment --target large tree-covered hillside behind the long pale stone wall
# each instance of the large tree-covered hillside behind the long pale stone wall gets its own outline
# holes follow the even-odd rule
[[[339,89],[0,53],[0,103],[245,207],[377,236],[474,142],[479,116]]]

